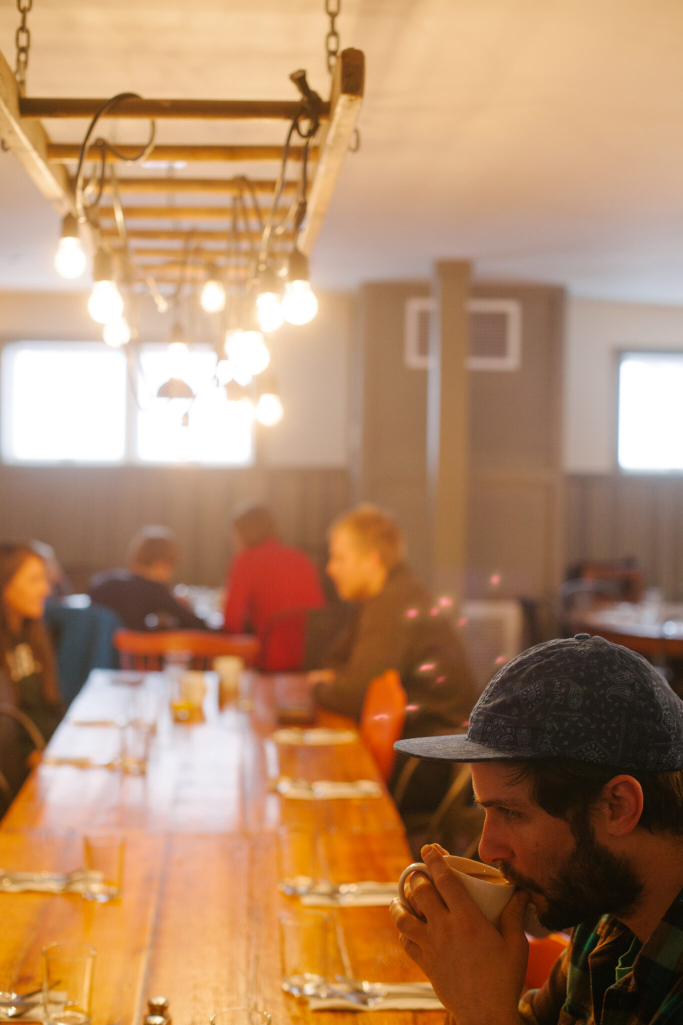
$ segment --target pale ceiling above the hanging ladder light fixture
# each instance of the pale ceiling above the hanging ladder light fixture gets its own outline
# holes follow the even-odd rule
[[[327,94],[324,6],[34,0],[28,91],[294,98],[288,75],[303,67]],[[12,65],[16,22],[0,0]],[[338,27],[343,46],[366,52],[367,93],[362,146],[314,252],[321,285],[424,277],[434,259],[470,257],[480,277],[683,302],[680,0],[342,0]],[[47,123],[56,139],[83,126]],[[189,127],[162,123],[160,138],[253,137],[244,124]],[[117,129],[124,141],[144,125]],[[0,154],[0,288],[68,287],[51,271],[57,230]]]

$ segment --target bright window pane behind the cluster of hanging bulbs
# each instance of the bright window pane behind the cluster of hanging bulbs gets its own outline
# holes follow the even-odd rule
[[[143,462],[199,462],[245,465],[253,457],[253,409],[228,402],[224,388],[212,382],[216,354],[194,348],[169,354],[168,346],[148,345],[140,353],[137,414],[137,458]],[[157,399],[159,387],[180,377],[197,396]],[[187,414],[187,424],[183,418]]]

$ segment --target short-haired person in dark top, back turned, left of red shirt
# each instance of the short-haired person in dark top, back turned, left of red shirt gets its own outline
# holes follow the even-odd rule
[[[168,527],[142,527],[128,546],[128,569],[97,573],[88,584],[95,605],[120,617],[129,630],[204,630],[207,624],[171,592],[179,561]]]

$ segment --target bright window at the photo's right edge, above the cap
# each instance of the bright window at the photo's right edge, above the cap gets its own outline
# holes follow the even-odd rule
[[[618,464],[683,470],[683,353],[629,353],[618,379]]]

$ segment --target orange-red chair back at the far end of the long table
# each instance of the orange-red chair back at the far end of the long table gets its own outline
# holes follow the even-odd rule
[[[210,669],[217,655],[239,655],[253,665],[258,641],[248,634],[213,633],[208,630],[117,630],[114,647],[121,655],[123,669],[155,672],[163,668],[164,655],[186,651],[193,669]]]

